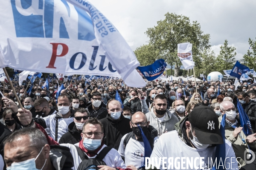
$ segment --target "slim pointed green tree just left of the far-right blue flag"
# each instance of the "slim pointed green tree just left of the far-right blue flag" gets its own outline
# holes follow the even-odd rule
[[[217,57],[216,70],[223,73],[223,70],[232,69],[235,62],[236,48],[228,46],[227,40],[221,45],[220,54]]]

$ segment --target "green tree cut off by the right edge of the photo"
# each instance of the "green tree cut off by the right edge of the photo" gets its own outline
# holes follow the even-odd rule
[[[250,69],[254,69],[256,68],[256,41],[255,40],[251,40],[249,38],[249,45],[250,47],[252,47],[252,50],[248,50],[247,54],[244,54],[244,60],[247,65],[247,67],[249,67]],[[252,52],[251,52],[252,51]]]

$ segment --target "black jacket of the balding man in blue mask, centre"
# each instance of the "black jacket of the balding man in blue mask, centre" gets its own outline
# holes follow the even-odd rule
[[[132,131],[130,120],[125,118],[122,114],[120,119],[114,120],[108,114],[107,117],[101,119],[100,122],[102,122],[104,127],[104,144],[118,150],[122,137]]]

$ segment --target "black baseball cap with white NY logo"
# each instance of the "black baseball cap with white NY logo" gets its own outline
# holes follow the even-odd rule
[[[223,144],[218,117],[212,108],[207,106],[195,107],[189,113],[189,122],[202,144]]]

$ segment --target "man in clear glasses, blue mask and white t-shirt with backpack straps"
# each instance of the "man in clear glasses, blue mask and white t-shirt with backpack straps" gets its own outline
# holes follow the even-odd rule
[[[83,130],[81,132],[82,140],[79,143],[61,144],[61,146],[70,148],[70,152],[74,159],[73,170],[77,170],[79,164],[84,159],[96,159],[96,156],[101,152],[106,153],[104,159],[102,159],[106,165],[99,165],[98,168],[105,170],[116,170],[117,167],[125,168],[124,161],[122,160],[117,150],[109,148],[104,144],[103,132],[104,127],[102,123],[97,119],[92,118],[84,124]]]

